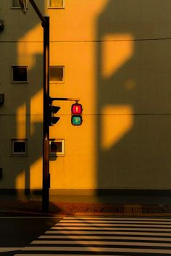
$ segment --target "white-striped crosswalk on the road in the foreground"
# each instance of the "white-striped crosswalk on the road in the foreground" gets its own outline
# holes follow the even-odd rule
[[[169,218],[63,218],[14,256],[171,255]]]

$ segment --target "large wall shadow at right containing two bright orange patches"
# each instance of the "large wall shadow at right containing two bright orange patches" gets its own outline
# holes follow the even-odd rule
[[[110,0],[99,16],[99,189],[170,189],[170,24],[167,0]]]

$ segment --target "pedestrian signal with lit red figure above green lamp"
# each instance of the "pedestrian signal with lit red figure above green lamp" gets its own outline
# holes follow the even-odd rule
[[[81,104],[75,103],[71,106],[71,123],[72,125],[81,125],[83,122],[82,118],[83,107]]]

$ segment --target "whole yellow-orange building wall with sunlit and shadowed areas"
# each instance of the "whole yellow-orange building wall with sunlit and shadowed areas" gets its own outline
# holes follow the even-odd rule
[[[57,102],[50,138],[64,139],[64,157],[50,161],[51,192],[170,189],[170,1],[36,4],[50,16],[50,65],[64,66],[64,83],[51,83],[50,95],[83,104],[75,127],[73,102]],[[3,0],[0,15],[0,188],[41,189],[43,29],[30,4],[23,16]],[[28,66],[27,85],[12,84],[12,65]],[[10,156],[14,138],[28,139],[28,157]]]

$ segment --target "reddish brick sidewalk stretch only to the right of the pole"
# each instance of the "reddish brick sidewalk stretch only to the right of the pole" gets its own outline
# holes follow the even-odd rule
[[[170,216],[171,205],[125,205],[104,203],[57,203],[58,214],[66,215],[115,215],[115,216]]]

